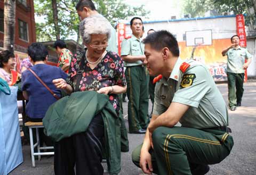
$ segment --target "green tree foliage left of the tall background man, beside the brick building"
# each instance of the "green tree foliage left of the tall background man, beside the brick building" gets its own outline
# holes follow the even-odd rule
[[[44,18],[36,22],[37,41],[55,40],[52,1],[36,0],[34,3],[36,15]],[[79,23],[75,10],[76,1],[57,0],[57,4],[61,38],[76,35]]]

